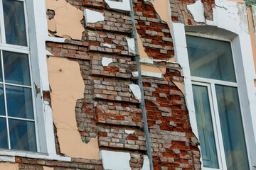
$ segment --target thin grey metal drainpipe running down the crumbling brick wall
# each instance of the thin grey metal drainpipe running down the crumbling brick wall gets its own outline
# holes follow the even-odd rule
[[[137,42],[137,31],[136,31],[135,20],[134,20],[133,2],[132,2],[132,0],[129,0],[129,1],[130,1],[130,6],[131,6],[131,11],[129,13],[129,16],[132,18],[132,38],[134,38],[134,43],[135,43],[135,52],[136,52],[135,61],[137,64],[137,71],[138,71],[137,84],[139,85],[139,89],[142,94],[142,102],[139,105],[139,108],[142,109],[144,132],[146,135],[146,154],[149,157],[150,170],[154,170],[152,154],[151,154],[150,139],[149,139],[149,127],[148,127],[147,118],[146,118],[145,99],[144,99],[144,91],[143,91],[143,85],[142,85],[142,72],[141,72],[140,62],[139,62],[139,49],[138,49],[138,42]]]

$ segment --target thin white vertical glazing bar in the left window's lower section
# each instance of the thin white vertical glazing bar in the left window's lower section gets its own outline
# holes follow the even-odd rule
[[[10,140],[10,132],[9,132],[9,120],[8,120],[8,111],[7,111],[7,103],[6,103],[6,86],[5,86],[5,79],[4,79],[4,59],[3,59],[3,51],[1,50],[1,69],[2,69],[2,76],[3,76],[3,86],[4,86],[4,107],[6,112],[6,129],[8,135],[8,147],[11,149],[11,140]]]

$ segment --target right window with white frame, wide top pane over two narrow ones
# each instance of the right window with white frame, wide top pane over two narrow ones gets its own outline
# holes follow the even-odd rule
[[[250,169],[230,42],[186,35],[204,169]]]

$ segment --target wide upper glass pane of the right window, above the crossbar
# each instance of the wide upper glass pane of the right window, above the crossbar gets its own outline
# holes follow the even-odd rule
[[[186,35],[191,76],[235,82],[230,42]]]

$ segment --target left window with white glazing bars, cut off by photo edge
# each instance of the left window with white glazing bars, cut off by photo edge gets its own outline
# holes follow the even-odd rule
[[[37,152],[26,1],[0,1],[0,148]]]

